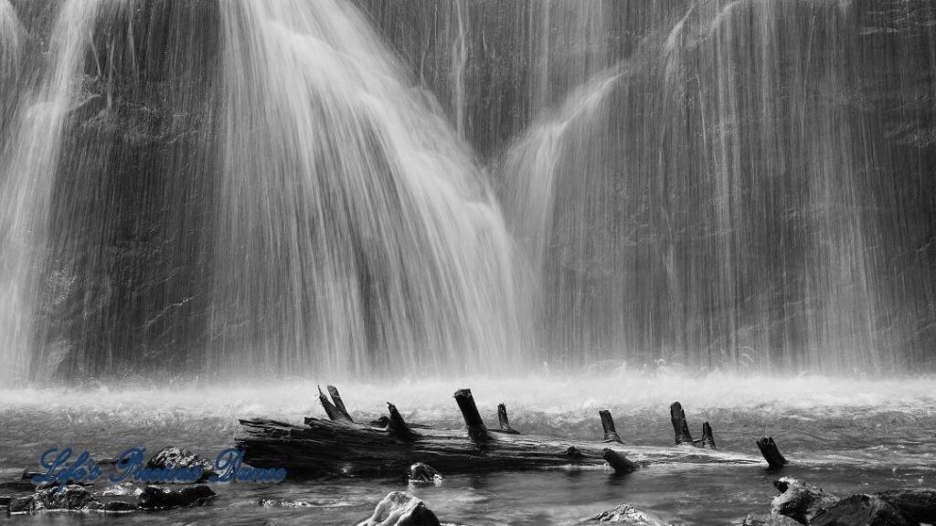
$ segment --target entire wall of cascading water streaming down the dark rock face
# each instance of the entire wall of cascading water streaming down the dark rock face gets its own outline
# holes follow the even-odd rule
[[[5,380],[932,367],[927,0],[356,3],[0,0]]]

